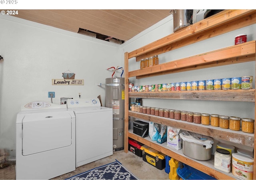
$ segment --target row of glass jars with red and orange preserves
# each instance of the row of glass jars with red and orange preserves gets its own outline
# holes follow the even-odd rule
[[[164,118],[193,122],[196,124],[210,125],[234,131],[254,133],[254,119],[239,118],[234,116],[223,116],[218,114],[207,114],[200,112],[188,112],[173,109],[154,108],[131,104],[131,111],[150,114]]]

